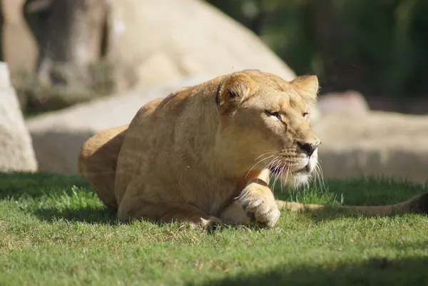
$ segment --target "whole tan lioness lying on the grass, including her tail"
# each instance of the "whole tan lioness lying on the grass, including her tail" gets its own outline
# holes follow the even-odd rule
[[[280,206],[270,176],[298,186],[317,166],[320,138],[308,105],[316,76],[287,82],[245,70],[189,86],[143,106],[127,126],[83,144],[78,168],[118,219],[187,220],[272,227]],[[426,211],[428,195],[380,207],[350,207],[386,215]],[[308,208],[322,208],[307,205]]]

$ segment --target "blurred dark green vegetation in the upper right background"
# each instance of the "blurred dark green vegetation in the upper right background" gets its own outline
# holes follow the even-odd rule
[[[206,0],[322,91],[428,94],[427,0]]]

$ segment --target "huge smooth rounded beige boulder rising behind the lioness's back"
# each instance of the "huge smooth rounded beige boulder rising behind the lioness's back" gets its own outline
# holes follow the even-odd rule
[[[252,31],[201,0],[110,1],[107,56],[119,86],[258,68],[295,77]]]

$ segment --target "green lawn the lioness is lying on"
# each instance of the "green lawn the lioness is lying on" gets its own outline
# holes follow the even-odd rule
[[[397,203],[427,186],[330,180],[304,203]],[[0,285],[428,285],[428,217],[282,211],[273,229],[123,225],[79,176],[0,174]]]

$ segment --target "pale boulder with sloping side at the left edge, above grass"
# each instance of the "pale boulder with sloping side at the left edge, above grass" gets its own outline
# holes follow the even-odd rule
[[[37,169],[31,138],[24,123],[7,64],[0,63],[0,172]]]

